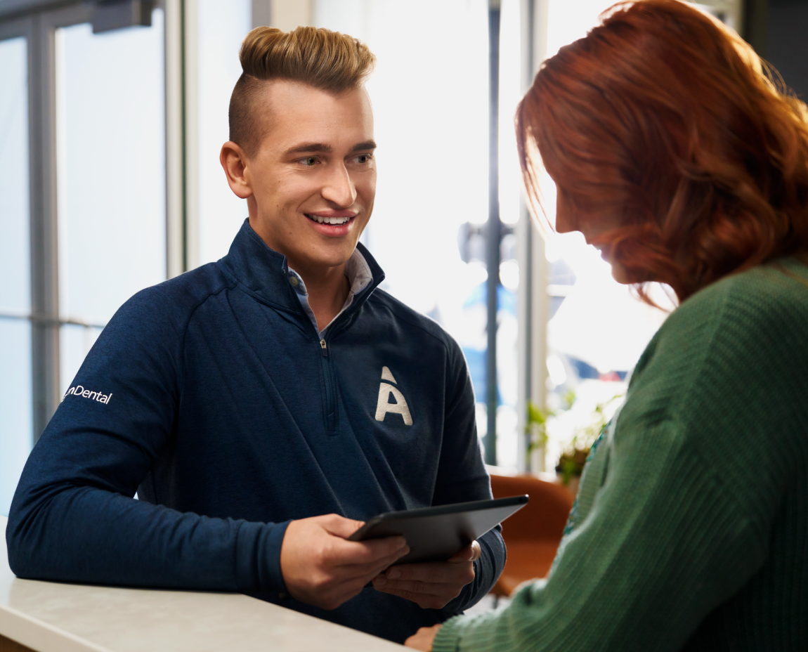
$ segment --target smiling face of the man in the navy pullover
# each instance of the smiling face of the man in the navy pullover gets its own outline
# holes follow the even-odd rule
[[[364,88],[330,95],[267,84],[265,135],[244,173],[250,226],[289,267],[317,274],[351,257],[376,196],[373,115]]]

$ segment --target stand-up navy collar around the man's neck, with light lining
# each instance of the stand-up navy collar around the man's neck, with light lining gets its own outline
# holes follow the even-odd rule
[[[299,280],[299,284],[302,284],[302,279],[289,269],[284,254],[271,250],[255,233],[249,218],[236,234],[227,255],[217,265],[259,301],[288,313],[297,313],[303,324],[309,322],[292,285],[292,279]],[[352,301],[350,306],[343,308],[343,312],[354,312],[385,279],[385,272],[361,243],[357,243],[356,250],[345,264],[345,272],[351,281],[348,297]],[[304,327],[310,332],[311,326]]]

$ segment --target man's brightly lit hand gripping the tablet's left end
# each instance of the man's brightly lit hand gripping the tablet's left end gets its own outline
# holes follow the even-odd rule
[[[335,609],[410,552],[403,536],[345,541],[362,525],[336,514],[289,523],[280,545],[280,571],[289,595],[315,607]]]

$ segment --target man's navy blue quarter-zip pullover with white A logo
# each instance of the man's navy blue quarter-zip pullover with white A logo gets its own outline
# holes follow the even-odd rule
[[[490,498],[460,348],[377,289],[360,251],[373,281],[322,338],[246,221],[218,263],[127,301],[27,461],[6,529],[15,574],[242,591],[393,641],[485,595],[499,528],[444,609],[372,587],[331,612],[280,599],[291,519]]]

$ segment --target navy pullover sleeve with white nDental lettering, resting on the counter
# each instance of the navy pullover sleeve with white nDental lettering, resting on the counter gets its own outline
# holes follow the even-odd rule
[[[181,513],[134,498],[170,441],[187,297],[150,288],[87,355],[29,456],[6,528],[19,577],[133,587],[284,591],[286,524]]]

